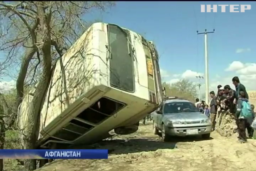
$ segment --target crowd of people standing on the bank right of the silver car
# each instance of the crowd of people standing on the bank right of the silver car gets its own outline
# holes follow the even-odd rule
[[[254,129],[252,128],[252,122],[255,119],[254,105],[249,103],[249,97],[246,92],[246,88],[240,83],[239,78],[236,76],[232,78],[232,82],[235,85],[235,90],[231,89],[229,85],[217,86],[217,94],[214,91],[210,92],[212,98],[209,106],[204,101],[196,99],[195,106],[199,111],[207,115],[212,122],[212,131],[216,125],[216,115],[233,115],[236,121],[237,128],[234,129],[234,133],[238,132],[238,140],[240,142],[247,142],[246,129],[248,131],[249,138],[253,137]]]

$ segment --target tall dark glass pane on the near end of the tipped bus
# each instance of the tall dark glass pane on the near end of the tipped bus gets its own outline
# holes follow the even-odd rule
[[[116,25],[108,24],[110,60],[110,84],[127,92],[134,92],[134,61],[130,36]]]

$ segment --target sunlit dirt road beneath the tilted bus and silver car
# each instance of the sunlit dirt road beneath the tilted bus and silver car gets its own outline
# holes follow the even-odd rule
[[[210,140],[163,142],[152,132],[148,122],[134,134],[93,145],[111,151],[107,160],[56,160],[38,171],[256,171],[256,140],[241,144],[213,132]]]

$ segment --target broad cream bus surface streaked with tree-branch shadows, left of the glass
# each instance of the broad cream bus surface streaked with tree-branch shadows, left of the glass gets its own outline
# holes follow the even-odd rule
[[[94,60],[99,56],[95,50],[98,48],[93,47],[94,39],[98,39],[94,31],[99,24],[93,24],[57,62],[41,111],[40,130],[84,92],[99,84],[99,79],[95,78],[99,65]]]

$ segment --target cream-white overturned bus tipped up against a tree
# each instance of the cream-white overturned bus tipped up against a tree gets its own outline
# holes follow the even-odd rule
[[[19,109],[26,128],[28,94]],[[41,114],[39,148],[89,144],[138,130],[163,92],[153,42],[115,24],[94,23],[57,62]]]

